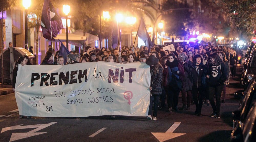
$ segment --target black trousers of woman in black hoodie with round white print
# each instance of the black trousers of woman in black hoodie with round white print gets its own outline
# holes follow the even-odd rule
[[[223,85],[220,86],[209,86],[209,101],[211,103],[212,109],[217,114],[220,114],[220,96],[223,90]],[[216,105],[214,102],[214,94],[216,96]]]

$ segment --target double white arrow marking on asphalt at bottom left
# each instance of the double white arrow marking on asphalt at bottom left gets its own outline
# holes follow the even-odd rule
[[[51,123],[48,123],[48,124],[26,125],[26,126],[21,126],[21,125],[24,125],[24,124],[20,124],[20,125],[11,126],[11,127],[5,127],[5,128],[2,129],[1,133],[5,132],[5,131],[8,131],[8,130],[36,128],[36,129],[31,130],[27,133],[12,133],[10,141],[14,141],[14,140],[19,140],[19,139],[28,138],[28,137],[32,137],[32,136],[47,133],[47,132],[40,132],[39,133],[37,131],[39,131],[41,129],[44,129],[48,126],[51,126],[52,124],[55,124],[55,123],[57,123],[57,122],[51,122]]]

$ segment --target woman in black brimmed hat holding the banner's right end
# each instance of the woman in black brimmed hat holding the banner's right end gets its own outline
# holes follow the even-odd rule
[[[150,65],[150,74],[151,74],[151,82],[150,82],[150,88],[151,91],[150,95],[150,105],[148,110],[148,116],[147,119],[152,120],[152,103],[154,99],[154,113],[153,113],[153,120],[156,121],[156,115],[158,110],[158,101],[159,97],[162,94],[161,89],[161,81],[163,76],[163,67],[159,63],[158,58],[155,58],[155,56],[150,55],[146,61],[147,65]]]

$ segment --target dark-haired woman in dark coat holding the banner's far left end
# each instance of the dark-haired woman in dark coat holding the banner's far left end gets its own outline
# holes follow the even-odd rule
[[[13,92],[15,92],[15,84],[16,84],[16,78],[17,78],[19,64],[21,66],[24,66],[24,65],[26,65],[26,63],[27,63],[27,58],[23,57],[23,56],[19,57],[19,59],[15,62],[15,67],[13,69]],[[19,118],[24,118],[24,116],[20,115]],[[27,116],[27,118],[31,118],[31,117]]]

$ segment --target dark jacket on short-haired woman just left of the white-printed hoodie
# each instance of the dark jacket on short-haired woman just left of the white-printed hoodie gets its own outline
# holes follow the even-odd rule
[[[193,88],[200,88],[203,85],[202,79],[206,75],[207,70],[205,65],[200,63],[198,71],[195,64],[190,65],[190,79],[193,83]]]

